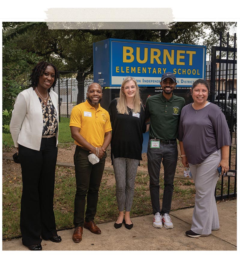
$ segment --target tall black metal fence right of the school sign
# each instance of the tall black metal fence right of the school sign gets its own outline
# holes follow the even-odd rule
[[[220,34],[220,46],[212,47],[211,63],[208,67],[210,75],[210,101],[219,106],[226,117],[232,146],[229,150],[229,167],[227,177],[221,177],[221,193],[216,200],[236,197],[237,184],[237,59],[236,59],[236,34],[234,35],[233,47],[229,46],[229,33],[227,34],[226,46],[222,45]],[[234,160],[232,160],[234,158]],[[234,186],[232,188],[232,186]],[[223,189],[227,188],[227,194]],[[230,192],[230,189],[232,189]],[[216,192],[215,192],[216,195]]]

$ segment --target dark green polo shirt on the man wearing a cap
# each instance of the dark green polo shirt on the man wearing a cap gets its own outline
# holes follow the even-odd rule
[[[150,117],[149,138],[173,140],[178,137],[178,124],[185,100],[173,96],[167,100],[162,93],[150,96],[146,101],[146,117]]]

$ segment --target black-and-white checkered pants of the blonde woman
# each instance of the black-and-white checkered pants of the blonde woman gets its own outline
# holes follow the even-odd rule
[[[139,160],[114,158],[113,169],[116,180],[116,198],[119,211],[130,211],[134,196],[134,182]]]

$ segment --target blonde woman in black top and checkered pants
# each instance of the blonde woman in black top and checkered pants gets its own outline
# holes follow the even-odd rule
[[[142,160],[143,133],[146,132],[145,108],[140,100],[137,81],[126,77],[122,82],[120,97],[109,106],[112,124],[111,158],[116,180],[116,198],[119,217],[114,224],[120,228],[133,227],[130,210],[134,196],[137,167]],[[124,213],[125,208],[125,213]]]

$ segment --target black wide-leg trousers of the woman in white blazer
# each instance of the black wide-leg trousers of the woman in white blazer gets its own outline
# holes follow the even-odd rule
[[[57,235],[53,212],[56,137],[42,138],[40,151],[19,145],[22,168],[20,229],[22,244],[40,244]]]

